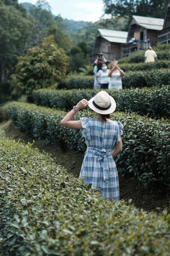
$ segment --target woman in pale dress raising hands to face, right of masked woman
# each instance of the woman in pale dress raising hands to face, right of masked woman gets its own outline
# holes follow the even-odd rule
[[[122,89],[122,77],[124,76],[123,70],[118,67],[117,61],[111,62],[111,67],[109,71],[110,81],[109,81],[109,89]]]

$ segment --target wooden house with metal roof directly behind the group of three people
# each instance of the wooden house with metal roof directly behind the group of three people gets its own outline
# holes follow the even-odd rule
[[[128,36],[127,31],[98,29],[90,63],[94,63],[97,54],[102,52],[108,62],[123,57],[123,46]]]

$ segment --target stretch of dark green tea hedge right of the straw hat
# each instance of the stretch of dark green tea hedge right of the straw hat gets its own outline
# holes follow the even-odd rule
[[[114,95],[114,94],[113,94]],[[116,95],[116,110],[170,119],[170,86],[124,89]],[[114,96],[113,96],[114,97]]]

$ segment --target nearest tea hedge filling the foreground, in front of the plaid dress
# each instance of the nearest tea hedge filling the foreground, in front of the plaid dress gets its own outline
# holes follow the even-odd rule
[[[1,255],[169,256],[167,210],[106,201],[30,144],[0,138],[0,159]]]

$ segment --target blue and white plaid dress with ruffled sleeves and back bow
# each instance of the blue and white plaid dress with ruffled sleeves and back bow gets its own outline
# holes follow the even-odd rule
[[[102,122],[81,117],[87,150],[81,166],[79,178],[98,188],[101,196],[109,200],[120,200],[119,178],[115,160],[111,153],[115,143],[120,141],[124,126],[119,121]]]

